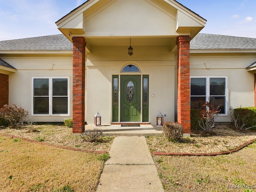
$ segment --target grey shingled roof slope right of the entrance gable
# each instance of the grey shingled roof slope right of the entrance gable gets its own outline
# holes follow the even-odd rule
[[[191,40],[190,49],[256,49],[256,39],[199,33]]]

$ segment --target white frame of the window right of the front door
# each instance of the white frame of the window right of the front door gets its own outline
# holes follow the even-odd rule
[[[228,110],[228,77],[227,76],[190,76],[190,89],[191,89],[191,78],[205,78],[206,79],[206,101],[210,97],[210,78],[225,78],[225,113],[221,113],[221,116],[227,116]],[[193,97],[193,96],[192,96]],[[191,95],[190,95],[191,99]]]

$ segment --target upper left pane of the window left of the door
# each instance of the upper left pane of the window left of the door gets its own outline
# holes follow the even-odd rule
[[[49,96],[48,79],[34,79],[34,96]]]

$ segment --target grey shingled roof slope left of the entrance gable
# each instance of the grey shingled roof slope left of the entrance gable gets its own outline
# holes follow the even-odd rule
[[[63,34],[0,41],[0,50],[73,50]]]

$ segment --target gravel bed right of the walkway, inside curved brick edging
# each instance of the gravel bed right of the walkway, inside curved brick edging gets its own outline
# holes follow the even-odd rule
[[[232,150],[256,138],[255,130],[241,132],[229,126],[219,125],[213,131],[215,133],[213,136],[192,132],[190,137],[183,138],[177,143],[168,142],[163,136],[148,136],[146,140],[151,152],[213,153]]]

